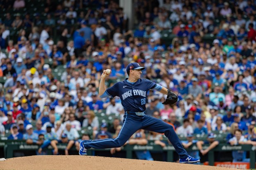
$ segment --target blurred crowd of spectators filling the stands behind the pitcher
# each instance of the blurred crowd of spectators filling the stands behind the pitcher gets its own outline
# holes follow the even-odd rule
[[[57,154],[58,142],[68,144],[68,154],[81,138],[115,137],[124,110],[119,98],[99,97],[100,75],[112,70],[106,80],[110,87],[127,77],[126,66],[134,61],[146,68],[142,78],[178,93],[177,105],[169,106],[161,104],[166,96],[149,91],[146,113],[187,137],[184,147],[194,141],[200,148],[206,141],[193,136],[212,139],[219,132],[228,134],[230,144],[255,145],[254,0],[135,0],[134,30],[128,30],[128,17],[114,0],[42,2],[32,14],[24,10],[30,1],[0,1],[3,136],[41,144],[38,154],[50,144]],[[173,35],[169,44],[166,33]],[[208,35],[210,42],[204,41]],[[102,113],[113,121],[102,122]],[[81,133],[88,128],[92,133]],[[143,130],[133,138],[168,144],[162,134]],[[147,144],[143,140],[128,143]],[[152,160],[149,154],[137,157]]]

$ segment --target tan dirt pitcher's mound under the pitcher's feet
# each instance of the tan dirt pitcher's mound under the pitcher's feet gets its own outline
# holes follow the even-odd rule
[[[100,156],[26,156],[0,161],[0,170],[237,170],[205,165]]]

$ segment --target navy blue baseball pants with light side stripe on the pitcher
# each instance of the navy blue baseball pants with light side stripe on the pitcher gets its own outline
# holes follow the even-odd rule
[[[123,126],[116,139],[103,140],[84,140],[83,145],[86,149],[106,149],[121,147],[129,138],[139,129],[154,131],[157,133],[164,133],[170,140],[180,158],[187,157],[187,151],[183,148],[178,135],[175,133],[173,126],[165,123],[161,119],[152,116],[144,115],[137,116],[135,113],[125,113],[123,116]]]

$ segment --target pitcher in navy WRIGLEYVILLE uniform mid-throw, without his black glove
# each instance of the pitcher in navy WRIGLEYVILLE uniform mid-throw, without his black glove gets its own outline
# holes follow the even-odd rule
[[[99,95],[101,98],[120,97],[125,110],[123,126],[118,137],[115,139],[81,141],[79,144],[79,155],[87,155],[87,149],[90,148],[105,149],[121,147],[135,132],[137,132],[137,130],[144,129],[157,133],[164,133],[177,151],[180,157],[180,163],[199,162],[199,159],[193,158],[187,154],[187,151],[183,148],[173,126],[165,123],[161,119],[145,114],[147,92],[150,89],[155,89],[166,95],[171,93],[171,91],[148,79],[141,79],[142,70],[145,70],[145,67],[141,67],[139,63],[128,64],[126,72],[129,77],[124,81],[117,82],[107,89],[105,86],[105,79],[111,72],[107,74],[106,70],[103,71],[100,80]]]

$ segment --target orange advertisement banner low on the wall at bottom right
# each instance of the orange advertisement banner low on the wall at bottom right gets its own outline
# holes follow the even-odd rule
[[[209,165],[205,162],[204,165]],[[226,167],[226,168],[238,168],[238,169],[249,169],[249,162],[214,162],[214,166]]]

